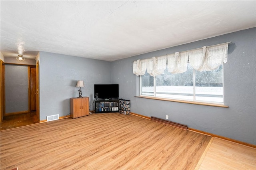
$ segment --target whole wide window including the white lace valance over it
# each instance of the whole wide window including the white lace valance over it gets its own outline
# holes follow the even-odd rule
[[[229,43],[133,61],[140,95],[223,105]]]

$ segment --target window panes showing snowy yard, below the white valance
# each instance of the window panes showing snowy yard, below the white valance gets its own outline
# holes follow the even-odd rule
[[[224,69],[196,71],[188,63],[187,71],[172,74],[165,69],[156,77],[140,75],[140,95],[169,99],[224,103]]]

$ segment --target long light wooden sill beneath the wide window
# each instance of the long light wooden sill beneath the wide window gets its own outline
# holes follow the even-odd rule
[[[197,101],[184,101],[184,100],[175,100],[175,99],[165,99],[165,98],[159,98],[159,97],[148,97],[148,96],[135,96],[145,99],[154,99],[154,100],[162,100],[162,101],[173,101],[173,102],[179,102],[179,103],[189,103],[194,105],[205,105],[205,106],[215,106],[215,107],[226,107],[226,105],[220,105],[220,104],[214,104],[214,103],[203,103],[203,102],[197,102]]]

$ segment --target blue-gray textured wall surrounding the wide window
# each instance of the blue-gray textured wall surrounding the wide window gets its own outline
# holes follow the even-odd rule
[[[162,56],[204,45],[230,42],[228,63],[224,65],[225,105],[229,108],[176,103],[134,97],[138,76],[132,74],[132,61]],[[188,125],[205,132],[256,144],[256,28],[187,43],[111,63],[112,83],[120,86],[120,98],[131,100],[131,112]]]

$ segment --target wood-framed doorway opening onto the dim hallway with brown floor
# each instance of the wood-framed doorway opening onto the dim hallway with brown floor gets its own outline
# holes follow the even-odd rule
[[[1,87],[1,95],[2,95],[2,122],[1,122],[1,130],[6,130],[9,128],[16,128],[26,125],[31,125],[34,123],[39,123],[39,113],[38,113],[38,67],[39,65],[20,65],[20,64],[11,64],[11,63],[3,63],[1,69],[1,77],[3,78],[3,87]],[[26,78],[24,82],[22,78],[17,75],[9,77],[10,72],[12,70],[18,70],[19,68],[27,69]],[[9,71],[8,71],[9,69]],[[11,70],[11,71],[10,71]],[[6,73],[8,72],[8,73]],[[21,74],[24,76],[23,73],[19,73],[19,71],[15,72],[16,74]],[[11,92],[8,91],[10,88],[10,84],[12,83]],[[10,83],[9,82],[9,83]],[[14,83],[13,83],[14,82]],[[27,88],[25,86],[27,82]],[[15,85],[17,88],[20,89],[22,92],[14,93]],[[23,85],[23,86],[22,86]],[[24,87],[25,86],[25,87]],[[18,89],[19,91],[19,89]],[[11,96],[10,96],[11,95]],[[13,98],[12,98],[13,97]],[[19,98],[20,99],[16,99]],[[12,100],[12,101],[9,101]],[[15,104],[13,104],[15,103]]]

